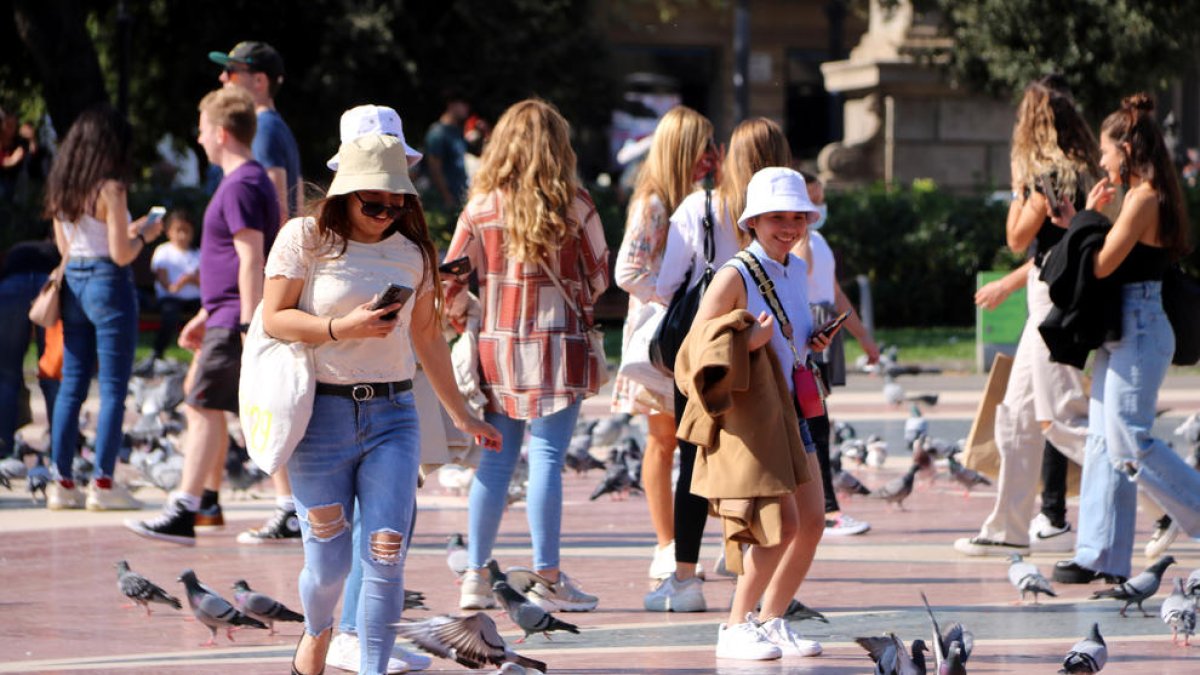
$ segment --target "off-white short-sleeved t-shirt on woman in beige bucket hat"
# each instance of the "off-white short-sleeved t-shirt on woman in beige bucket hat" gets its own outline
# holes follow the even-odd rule
[[[383,293],[389,283],[416,293],[401,307],[396,329],[386,338],[342,338],[317,345],[317,381],[355,384],[412,378],[416,370],[409,339],[413,305],[433,288],[432,279],[421,279],[421,250],[402,234],[377,244],[347,241],[346,252],[335,257],[340,250],[341,244],[330,250],[319,239],[313,219],[292,219],[271,245],[266,279],[306,279],[311,273],[298,309],[319,317],[343,316]]]

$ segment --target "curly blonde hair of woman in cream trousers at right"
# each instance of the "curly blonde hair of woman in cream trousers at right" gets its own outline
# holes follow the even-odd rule
[[[1036,79],[1025,88],[1013,126],[1013,189],[1032,191],[1043,175],[1067,199],[1087,192],[1099,175],[1096,136],[1075,109],[1061,76]]]

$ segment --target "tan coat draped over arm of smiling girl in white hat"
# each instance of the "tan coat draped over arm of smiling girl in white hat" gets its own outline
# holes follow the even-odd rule
[[[811,478],[779,359],[769,346],[749,348],[754,323],[734,310],[694,324],[676,358],[688,396],[677,436],[700,448],[691,491],[721,519],[725,563],[738,573],[738,544],[778,545],[780,498]]]

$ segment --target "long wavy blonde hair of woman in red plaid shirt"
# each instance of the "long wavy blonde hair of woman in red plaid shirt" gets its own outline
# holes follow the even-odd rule
[[[570,135],[554,106],[528,98],[500,115],[484,148],[470,196],[499,192],[505,253],[515,259],[541,261],[574,227],[578,180]]]

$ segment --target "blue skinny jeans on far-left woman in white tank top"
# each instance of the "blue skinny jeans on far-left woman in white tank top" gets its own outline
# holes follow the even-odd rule
[[[54,401],[50,443],[61,478],[74,478],[79,408],[91,374],[98,371],[94,478],[112,478],[121,449],[125,396],[138,344],[138,299],[133,273],[107,258],[67,262],[62,285],[62,384]],[[97,369],[98,365],[98,369]]]

